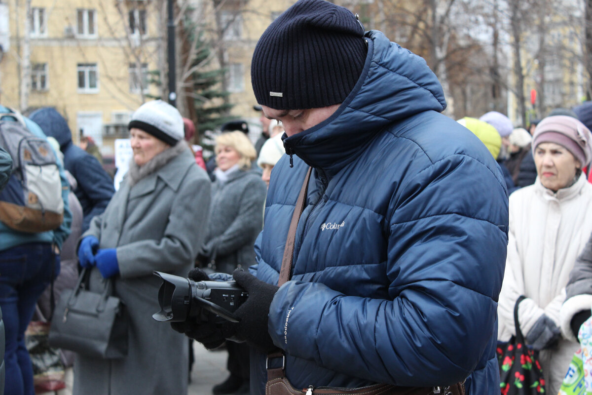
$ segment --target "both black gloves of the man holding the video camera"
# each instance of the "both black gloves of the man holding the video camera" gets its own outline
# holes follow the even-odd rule
[[[199,268],[192,269],[188,277],[194,281],[211,280],[204,271]],[[226,339],[244,341],[249,345],[269,352],[275,349],[269,336],[268,314],[271,301],[278,290],[275,285],[258,280],[255,276],[242,269],[233,272],[234,280],[242,287],[249,297],[234,311],[240,322],[224,322],[221,324],[213,321],[201,322],[189,319],[185,322],[173,322],[170,326],[177,332],[184,333],[192,339],[202,343],[205,348],[219,347]]]

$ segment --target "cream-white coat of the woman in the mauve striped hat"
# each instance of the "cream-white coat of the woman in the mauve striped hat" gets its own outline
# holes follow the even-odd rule
[[[592,232],[592,184],[585,175],[569,188],[552,192],[540,184],[510,195],[510,234],[506,271],[498,304],[498,340],[514,335],[514,304],[520,329],[527,335],[546,314],[559,326],[571,269]],[[561,386],[577,343],[564,338],[558,348],[543,350],[540,362],[548,393]]]

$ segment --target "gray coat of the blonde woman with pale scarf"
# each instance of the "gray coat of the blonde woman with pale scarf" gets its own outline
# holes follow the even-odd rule
[[[255,239],[263,227],[267,187],[254,171],[237,171],[214,181],[211,221],[202,255],[215,260],[215,271],[231,274],[255,264]],[[203,259],[202,259],[203,260]]]

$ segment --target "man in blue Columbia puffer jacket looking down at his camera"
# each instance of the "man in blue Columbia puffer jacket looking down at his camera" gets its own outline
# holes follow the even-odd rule
[[[507,191],[487,148],[440,114],[442,86],[426,62],[365,32],[346,8],[300,0],[265,30],[251,65],[288,155],[271,172],[258,264],[212,275],[249,297],[239,323],[173,329],[207,348],[246,341],[252,395],[288,393],[286,381],[309,394],[372,394],[379,383],[456,394],[461,382],[468,394],[499,395]],[[291,270],[280,277],[284,253]],[[279,368],[266,372],[266,361]]]

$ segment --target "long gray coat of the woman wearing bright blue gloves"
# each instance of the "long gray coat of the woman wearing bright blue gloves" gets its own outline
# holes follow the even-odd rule
[[[174,147],[173,147],[174,149]],[[144,165],[146,166],[146,165]],[[83,235],[100,248],[117,248],[120,275],[115,294],[130,314],[128,355],[92,359],[76,355],[75,395],[187,393],[187,338],[168,323],[156,322],[161,284],[152,271],[186,277],[205,236],[210,179],[188,149],[130,188],[126,178],[100,216]],[[91,289],[103,289],[98,269]]]

